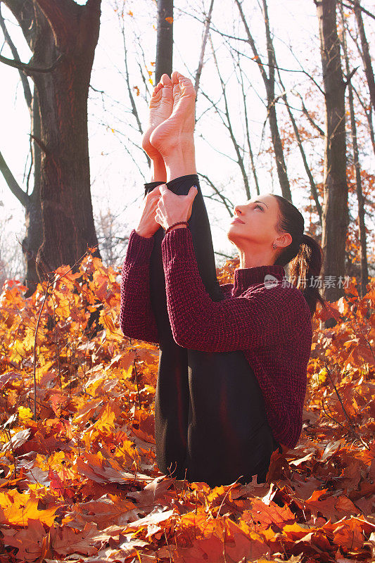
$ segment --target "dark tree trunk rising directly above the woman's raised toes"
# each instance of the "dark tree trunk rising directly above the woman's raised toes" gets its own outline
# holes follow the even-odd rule
[[[156,40],[155,86],[163,74],[172,74],[173,0],[158,0],[158,35]]]

